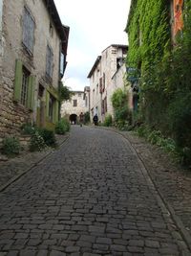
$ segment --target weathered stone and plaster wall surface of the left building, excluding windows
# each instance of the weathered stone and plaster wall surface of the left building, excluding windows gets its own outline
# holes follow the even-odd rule
[[[31,12],[35,23],[32,56],[22,43],[24,6]],[[44,1],[4,0],[2,24],[4,44],[0,70],[0,137],[18,133],[23,123],[35,122],[38,84],[41,83],[45,88],[50,83],[55,88],[58,86],[60,47],[59,35]],[[50,24],[53,25],[52,33],[50,33]],[[47,44],[53,49],[53,81],[51,82],[45,79]],[[32,76],[36,77],[33,111],[23,105],[13,103],[15,60],[17,58],[22,60]]]

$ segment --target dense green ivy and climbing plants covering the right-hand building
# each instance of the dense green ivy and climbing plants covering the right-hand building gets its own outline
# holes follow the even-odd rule
[[[132,0],[127,66],[140,70],[140,113],[149,127],[191,149],[191,0],[173,43],[170,2]],[[183,127],[183,128],[182,128]]]

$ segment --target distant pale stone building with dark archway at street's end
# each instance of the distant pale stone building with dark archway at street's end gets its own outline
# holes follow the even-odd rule
[[[76,124],[79,115],[90,111],[90,87],[86,86],[84,91],[73,91],[71,100],[63,102],[61,116],[66,117],[72,124]]]

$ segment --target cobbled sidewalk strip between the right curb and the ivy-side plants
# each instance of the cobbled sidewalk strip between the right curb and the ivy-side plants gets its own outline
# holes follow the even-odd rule
[[[183,169],[159,147],[131,132],[122,132],[144,162],[162,198],[173,207],[189,233],[191,245],[191,171]]]

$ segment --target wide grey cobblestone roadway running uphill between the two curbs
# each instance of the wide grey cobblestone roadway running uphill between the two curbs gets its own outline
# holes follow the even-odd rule
[[[0,194],[0,256],[191,255],[128,141],[74,127]]]

